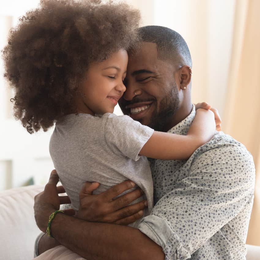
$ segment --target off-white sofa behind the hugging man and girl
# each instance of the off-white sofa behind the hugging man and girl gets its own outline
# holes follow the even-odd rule
[[[0,260],[30,260],[40,233],[33,212],[34,196],[42,185],[0,191]],[[260,260],[260,247],[247,245],[247,260]]]

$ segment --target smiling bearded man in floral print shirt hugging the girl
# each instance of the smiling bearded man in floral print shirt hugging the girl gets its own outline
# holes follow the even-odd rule
[[[195,117],[188,46],[169,28],[147,26],[140,31],[143,45],[129,56],[120,106],[155,130],[185,135]],[[146,109],[137,112],[140,107]],[[151,171],[155,206],[139,229],[90,222],[128,224],[145,206],[121,209],[140,195],[138,189],[111,200],[132,187],[129,181],[88,196],[98,185],[94,183],[80,193],[77,217],[55,216],[51,232],[58,242],[44,236],[41,250],[60,243],[88,260],[245,259],[254,163],[242,144],[216,132],[188,161],[152,160]],[[65,202],[58,198],[64,190],[56,190],[57,182],[53,173],[45,191],[35,197],[35,219],[44,232],[48,216]]]

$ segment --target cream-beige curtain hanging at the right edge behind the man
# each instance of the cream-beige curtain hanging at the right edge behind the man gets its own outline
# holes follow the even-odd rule
[[[243,143],[256,167],[247,243],[260,246],[260,1],[237,0],[223,130]]]

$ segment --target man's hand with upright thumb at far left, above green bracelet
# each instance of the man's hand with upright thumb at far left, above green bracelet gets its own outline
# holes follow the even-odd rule
[[[60,209],[60,204],[69,204],[68,196],[59,196],[60,193],[65,193],[63,186],[56,186],[59,181],[59,176],[56,170],[50,174],[49,182],[45,185],[44,191],[34,197],[34,217],[39,229],[46,233],[46,228],[49,216],[55,210]],[[64,210],[67,215],[74,215],[73,209]]]

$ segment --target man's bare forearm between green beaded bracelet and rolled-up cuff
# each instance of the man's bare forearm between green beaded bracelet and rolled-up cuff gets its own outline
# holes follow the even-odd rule
[[[162,247],[139,229],[87,222],[57,214],[51,224],[55,239],[88,260],[164,260]]]

